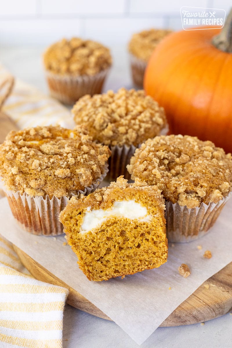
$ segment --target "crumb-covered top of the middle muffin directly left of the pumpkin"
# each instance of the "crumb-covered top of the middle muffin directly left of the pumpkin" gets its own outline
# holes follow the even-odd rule
[[[72,109],[74,121],[105,145],[138,145],[166,126],[163,108],[144,90],[120,88],[117,93],[85,95]]]

